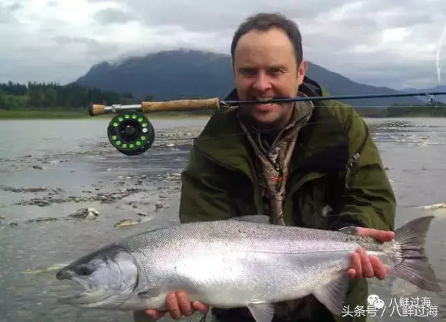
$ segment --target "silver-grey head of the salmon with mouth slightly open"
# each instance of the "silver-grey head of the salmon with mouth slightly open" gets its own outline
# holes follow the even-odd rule
[[[79,293],[59,297],[59,303],[114,309],[125,303],[137,287],[138,266],[130,252],[111,245],[72,262],[56,273],[56,278],[82,287]]]

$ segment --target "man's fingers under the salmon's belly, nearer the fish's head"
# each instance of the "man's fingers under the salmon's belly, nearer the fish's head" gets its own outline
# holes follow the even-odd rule
[[[166,311],[155,311],[155,309],[146,309],[146,314],[152,319],[161,319],[164,314],[169,312],[172,319],[180,319],[181,316],[191,316],[195,312],[208,312],[208,305],[201,302],[191,303],[189,296],[185,291],[171,292],[166,297]]]

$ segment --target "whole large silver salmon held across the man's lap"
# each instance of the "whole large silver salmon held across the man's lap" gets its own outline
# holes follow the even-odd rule
[[[358,247],[390,274],[421,289],[441,291],[424,251],[433,216],[395,231],[394,241],[249,220],[185,223],[105,245],[61,269],[82,293],[59,303],[98,309],[166,309],[167,293],[185,290],[210,307],[248,307],[270,322],[274,303],[313,294],[340,315],[349,287],[346,271]]]

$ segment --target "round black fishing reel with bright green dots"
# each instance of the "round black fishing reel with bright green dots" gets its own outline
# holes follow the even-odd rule
[[[107,135],[119,152],[134,156],[146,152],[155,140],[155,129],[143,113],[122,111],[109,123]]]

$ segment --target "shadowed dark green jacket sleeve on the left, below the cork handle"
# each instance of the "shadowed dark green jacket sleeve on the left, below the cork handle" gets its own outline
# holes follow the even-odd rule
[[[231,197],[222,167],[211,163],[195,147],[182,173],[180,223],[231,217]]]

